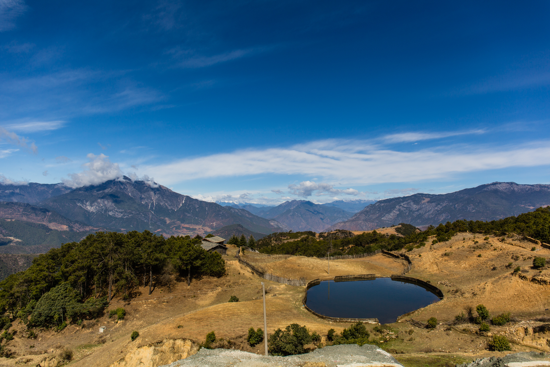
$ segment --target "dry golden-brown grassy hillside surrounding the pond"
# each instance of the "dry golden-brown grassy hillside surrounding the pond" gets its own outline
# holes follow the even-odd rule
[[[445,297],[387,325],[395,338],[388,339],[387,335],[373,332],[373,326],[368,326],[371,336],[384,341],[386,349],[405,366],[454,366],[454,363],[480,356],[510,353],[486,349],[487,339],[494,333],[506,335],[512,342],[513,352],[550,352],[550,335],[533,333],[533,327],[543,324],[534,319],[550,317],[550,270],[539,272],[531,267],[533,256],[550,258],[550,250],[537,246],[535,251],[531,251],[533,244],[520,238],[506,238],[503,243],[493,236],[487,241],[483,240],[484,237],[484,234],[459,233],[448,242],[427,244],[407,253],[413,262],[407,275],[430,281],[443,291]],[[7,344],[7,348],[15,352],[14,358],[0,358],[0,365],[36,365],[67,348],[74,352],[70,365],[133,366],[137,365],[133,364],[134,357],[140,350],[145,350],[138,349],[140,347],[150,346],[151,349],[159,346],[156,352],[153,351],[158,354],[162,352],[159,349],[164,345],[162,341],[190,339],[193,343],[188,343],[188,352],[193,353],[197,343],[204,341],[210,331],[215,331],[218,339],[223,338],[215,346],[262,353],[263,344],[251,348],[245,338],[251,326],[263,328],[263,280],[239,264],[234,258],[236,251],[229,249],[228,255],[224,256],[227,275],[222,278],[194,280],[190,287],[180,282],[172,293],[156,288],[150,296],[147,295],[148,289],[141,288],[142,294],[130,302],[115,299],[109,309],[124,307],[127,310],[124,321],[115,322],[105,316],[85,321],[81,326],[70,325],[61,332],[41,331],[37,339],[25,338],[25,325],[14,322],[12,330],[18,332]],[[389,276],[400,274],[406,265],[402,260],[381,254],[362,259],[331,260],[328,275],[326,260],[250,252],[245,253],[245,258],[274,275],[307,280],[368,273]],[[509,262],[513,264],[508,266]],[[516,266],[520,266],[522,271],[513,274]],[[326,337],[329,328],[340,332],[349,326],[319,319],[306,311],[301,304],[304,287],[266,281],[266,288],[270,332],[295,322]],[[232,295],[236,295],[240,302],[228,303]],[[510,312],[516,321],[505,326],[491,326],[489,333],[478,332],[478,326],[472,324],[444,324],[454,320],[454,316],[464,311],[466,306],[475,308],[477,304],[485,304],[491,315]],[[432,316],[443,323],[433,331],[411,326],[406,321],[412,317],[426,322]],[[105,332],[98,332],[100,326],[106,326]],[[132,342],[130,334],[134,330],[138,330],[140,336]],[[172,352],[168,348],[162,353],[168,355]],[[162,359],[166,363],[168,360]]]

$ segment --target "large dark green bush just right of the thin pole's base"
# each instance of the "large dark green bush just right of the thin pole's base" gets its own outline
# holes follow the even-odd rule
[[[313,337],[305,325],[290,324],[284,331],[280,328],[275,330],[267,344],[271,355],[294,355],[306,353],[304,345],[312,341]]]

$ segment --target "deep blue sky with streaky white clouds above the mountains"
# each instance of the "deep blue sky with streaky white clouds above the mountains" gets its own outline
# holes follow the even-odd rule
[[[265,204],[549,183],[549,8],[0,0],[0,172]]]

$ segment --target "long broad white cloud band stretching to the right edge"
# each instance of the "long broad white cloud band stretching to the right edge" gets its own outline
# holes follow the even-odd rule
[[[189,179],[296,174],[328,184],[368,185],[448,178],[452,174],[506,167],[550,165],[547,141],[524,146],[436,147],[418,151],[381,149],[359,140],[322,140],[288,148],[239,150],[142,166],[164,185]]]

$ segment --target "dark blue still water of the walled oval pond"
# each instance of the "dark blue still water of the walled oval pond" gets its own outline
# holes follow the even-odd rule
[[[437,302],[437,295],[417,284],[392,278],[321,282],[307,290],[306,305],[318,314],[330,317],[370,319],[381,324]]]

